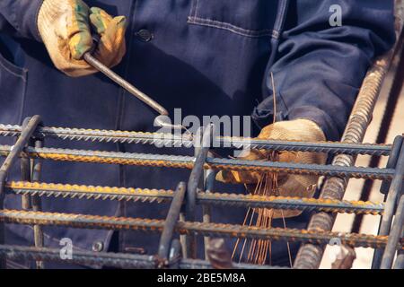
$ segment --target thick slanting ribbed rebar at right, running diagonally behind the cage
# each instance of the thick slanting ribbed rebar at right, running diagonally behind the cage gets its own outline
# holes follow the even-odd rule
[[[400,24],[400,31],[402,24]],[[401,32],[400,32],[401,34]],[[347,127],[341,141],[344,143],[361,143],[364,139],[367,126],[372,119],[373,109],[378,99],[382,82],[391,65],[394,50],[377,59],[364,78],[364,83],[359,91],[356,103],[348,119]],[[356,157],[348,154],[337,155],[332,164],[340,167],[353,166]],[[347,188],[348,178],[328,178],[321,189],[323,199],[342,199]],[[308,230],[331,230],[335,221],[335,215],[329,213],[317,213],[312,216]],[[294,261],[294,268],[315,269],[321,263],[324,247],[312,244],[303,245],[299,249]]]

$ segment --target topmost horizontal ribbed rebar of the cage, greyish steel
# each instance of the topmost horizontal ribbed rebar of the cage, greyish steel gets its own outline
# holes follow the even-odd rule
[[[21,134],[21,126],[0,125],[0,136],[18,136]],[[40,127],[37,135],[52,137],[61,140],[105,142],[105,143],[141,143],[156,144],[159,146],[184,146],[194,145],[189,135],[171,135],[160,133],[143,133],[128,131],[90,130],[62,127]],[[369,154],[389,155],[391,144],[373,143],[306,143],[306,142],[284,142],[275,140],[259,140],[242,137],[217,136],[214,140],[214,147],[235,147],[250,149],[267,149],[272,151],[291,152],[328,152],[344,154]]]

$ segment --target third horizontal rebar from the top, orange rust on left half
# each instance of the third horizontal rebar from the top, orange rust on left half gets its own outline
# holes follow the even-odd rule
[[[173,190],[92,187],[79,185],[46,184],[31,182],[9,182],[7,192],[22,196],[47,196],[62,198],[87,198],[100,200],[165,202],[171,201]],[[217,192],[198,192],[198,204],[234,205],[253,208],[273,208],[284,210],[323,211],[331,213],[382,214],[383,203],[300,198],[286,196],[236,195]]]

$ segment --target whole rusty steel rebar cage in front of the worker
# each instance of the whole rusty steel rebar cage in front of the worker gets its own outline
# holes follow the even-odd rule
[[[399,1],[400,2],[400,1]],[[402,7],[402,6],[400,6]],[[402,9],[400,10],[400,15]],[[400,16],[399,15],[399,16]],[[402,17],[401,17],[402,18]],[[13,146],[0,145],[4,159],[0,169],[0,264],[5,267],[7,258],[58,261],[60,250],[45,248],[42,227],[57,225],[85,229],[144,230],[160,232],[158,253],[133,255],[124,253],[75,251],[69,260],[72,264],[107,265],[121,268],[277,268],[270,265],[236,264],[223,256],[219,260],[195,259],[196,236],[239,239],[270,239],[302,242],[294,268],[317,268],[324,248],[332,239],[339,239],[348,247],[374,248],[373,268],[404,268],[404,141],[396,137],[392,144],[362,143],[369,125],[382,82],[389,71],[391,60],[402,59],[402,21],[398,22],[398,42],[387,55],[377,59],[364,79],[356,104],[349,117],[347,128],[339,143],[303,143],[264,141],[247,138],[215,136],[213,126],[206,126],[202,135],[162,135],[141,132],[86,130],[43,126],[40,116],[27,118],[22,126],[0,125],[0,136],[17,137]],[[402,61],[396,74],[402,75]],[[396,80],[400,76],[396,77]],[[397,90],[397,89],[395,89]],[[399,89],[400,90],[400,89]],[[398,91],[391,91],[391,93]],[[394,96],[391,94],[391,96]],[[397,95],[395,95],[397,96]],[[4,123],[7,124],[7,123]],[[171,143],[171,146],[195,147],[195,156],[139,154],[66,150],[44,147],[44,139],[63,141],[92,141],[131,144]],[[196,143],[199,144],[196,144]],[[209,144],[204,144],[209,143]],[[268,151],[326,152],[333,157],[329,165],[299,164],[272,161],[240,161],[218,159],[209,152],[209,146],[233,148],[248,147]],[[383,169],[356,167],[356,155],[388,156]],[[7,175],[16,161],[21,161],[22,181],[7,181]],[[131,166],[188,169],[188,183],[180,182],[176,190],[146,188],[92,187],[50,184],[39,182],[43,160],[95,162]],[[33,164],[31,164],[33,162]],[[258,170],[262,172],[287,172],[290,174],[317,175],[325,178],[319,198],[283,196],[254,196],[223,194],[212,191],[215,170]],[[382,203],[342,200],[349,178],[382,180]],[[22,210],[4,210],[5,194],[22,196]],[[72,213],[41,212],[40,197],[71,197],[91,200],[164,201],[170,202],[165,220],[123,218]],[[30,203],[30,204],[29,204]],[[307,230],[263,229],[209,221],[209,209],[204,209],[204,221],[196,218],[196,205],[237,205],[251,208],[312,211],[314,215]],[[382,215],[378,235],[332,232],[337,213]],[[139,214],[141,215],[141,214]],[[393,220],[394,218],[394,220]],[[33,226],[35,246],[22,247],[4,244],[4,224],[29,224]],[[178,234],[183,239],[178,239]],[[206,248],[207,248],[206,244]],[[216,250],[217,251],[217,250]],[[218,250],[219,254],[223,250]]]

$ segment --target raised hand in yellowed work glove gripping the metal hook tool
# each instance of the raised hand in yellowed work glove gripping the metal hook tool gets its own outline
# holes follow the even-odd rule
[[[92,31],[101,37],[94,57],[104,65],[118,65],[126,53],[126,18],[112,18],[82,0],[44,0],[38,28],[53,63],[69,76],[97,72],[83,61],[84,53],[92,50]]]

